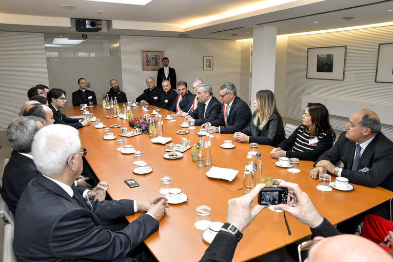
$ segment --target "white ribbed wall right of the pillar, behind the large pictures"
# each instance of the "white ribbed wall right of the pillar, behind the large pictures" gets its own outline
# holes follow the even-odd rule
[[[275,91],[285,90],[283,116],[301,120],[302,95],[329,96],[393,105],[393,83],[376,83],[378,46],[393,43],[393,26],[342,32],[288,36],[287,49],[278,45],[278,56],[287,52],[285,86],[276,82]],[[284,40],[282,40],[284,41]],[[346,46],[345,78],[340,80],[307,79],[307,48]],[[276,75],[283,75],[277,67]],[[355,81],[347,81],[355,74]],[[276,77],[277,79],[277,77]],[[280,102],[282,103],[282,102]],[[393,117],[393,116],[392,116]],[[333,128],[344,130],[346,117],[331,116]],[[383,133],[393,139],[393,126],[382,125]]]

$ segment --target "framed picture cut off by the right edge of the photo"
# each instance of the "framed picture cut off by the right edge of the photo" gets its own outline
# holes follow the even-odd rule
[[[393,43],[379,44],[375,82],[393,83]]]

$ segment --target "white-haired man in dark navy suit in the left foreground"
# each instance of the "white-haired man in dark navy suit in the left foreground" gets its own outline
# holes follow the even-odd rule
[[[86,199],[72,186],[82,171],[82,150],[78,131],[69,126],[50,125],[35,135],[32,154],[42,174],[27,185],[16,208],[13,250],[18,261],[146,258],[134,251],[159,229],[167,199]],[[134,212],[147,213],[121,231],[102,227],[101,221]]]

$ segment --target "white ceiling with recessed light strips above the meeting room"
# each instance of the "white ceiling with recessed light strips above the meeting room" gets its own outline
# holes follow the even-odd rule
[[[387,11],[393,9],[393,0],[284,0],[288,3],[265,9],[255,7],[274,1],[278,0],[153,0],[146,6],[135,6],[83,0],[1,0],[0,30],[81,34],[70,31],[69,18],[95,18],[111,20],[113,28],[88,34],[187,34],[235,40],[251,38],[252,29],[258,26],[274,26],[278,34],[289,34],[393,21],[393,11]],[[73,5],[75,9],[67,11],[62,5]],[[192,22],[247,6],[254,9],[199,25]],[[344,16],[356,18],[345,20]]]

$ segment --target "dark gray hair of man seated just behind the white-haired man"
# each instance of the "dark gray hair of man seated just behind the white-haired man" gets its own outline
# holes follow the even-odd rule
[[[30,153],[34,135],[40,130],[35,116],[22,116],[12,120],[7,128],[7,139],[16,152]],[[44,153],[45,155],[45,153]]]

